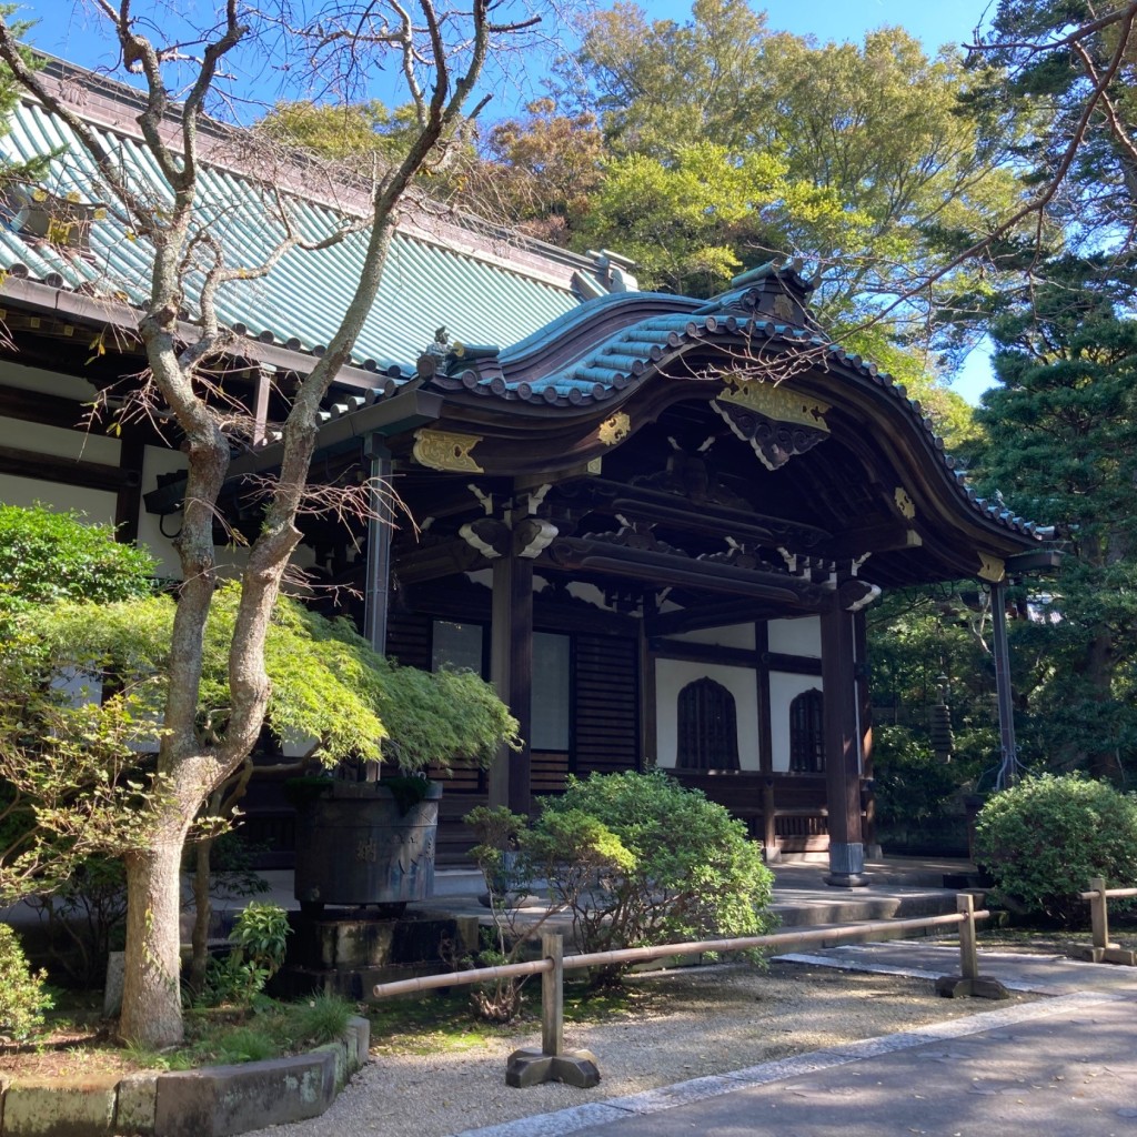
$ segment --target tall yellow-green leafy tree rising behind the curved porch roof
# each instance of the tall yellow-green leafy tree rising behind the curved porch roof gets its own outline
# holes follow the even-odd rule
[[[772,32],[742,0],[698,0],[682,24],[633,5],[595,14],[574,64],[612,152],[583,242],[637,258],[644,287],[697,294],[802,256],[827,329],[969,435],[936,379],[940,349],[958,347],[940,309],[973,343],[991,265],[953,262],[1021,186],[1006,163],[1015,124],[997,133],[963,101],[976,78],[961,56],[930,58],[899,28],[819,44]]]

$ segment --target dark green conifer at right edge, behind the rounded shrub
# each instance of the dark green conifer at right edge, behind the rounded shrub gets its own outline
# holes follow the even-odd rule
[[[1015,512],[1062,526],[1068,556],[1020,632],[1046,662],[1032,699],[1052,762],[1120,778],[1137,750],[1137,274],[1073,254],[991,324],[984,475]]]

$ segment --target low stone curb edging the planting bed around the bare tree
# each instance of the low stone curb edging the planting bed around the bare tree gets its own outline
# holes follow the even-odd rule
[[[0,1137],[231,1137],[319,1117],[366,1061],[371,1023],[308,1054],[123,1078],[0,1078]]]

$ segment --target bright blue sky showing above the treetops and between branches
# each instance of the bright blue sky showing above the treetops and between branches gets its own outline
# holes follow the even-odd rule
[[[211,11],[214,5],[207,0],[180,0],[166,5],[135,0],[140,13],[161,13],[164,25],[176,18],[172,16],[175,7],[182,11]],[[641,0],[641,7],[649,17],[658,19],[682,22],[690,14],[689,0]],[[767,0],[765,5],[755,0],[755,7],[765,8],[772,30],[814,35],[822,42],[860,41],[868,31],[898,25],[918,36],[929,52],[944,44],[971,42],[977,24],[988,11],[985,0]],[[115,52],[102,34],[102,19],[82,0],[28,0],[20,6],[19,16],[39,22],[30,39],[44,51],[88,67],[108,66],[115,60]],[[531,59],[530,63],[540,68],[539,60],[534,63]],[[247,57],[241,61],[241,69],[262,99],[271,101],[276,96],[276,90],[265,84],[269,69],[263,56]],[[497,117],[511,113],[516,103],[524,102],[537,92],[532,81],[523,84],[499,82],[497,85],[497,103],[488,111]],[[974,351],[953,385],[969,402],[977,402],[982,390],[993,382],[986,356]]]

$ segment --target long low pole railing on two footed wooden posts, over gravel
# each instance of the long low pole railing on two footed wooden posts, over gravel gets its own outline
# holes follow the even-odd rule
[[[857,943],[879,935],[896,931],[923,931],[929,928],[957,927],[960,930],[960,974],[945,977],[947,988],[940,986],[941,994],[996,996],[999,985],[985,980],[979,974],[978,954],[976,951],[976,921],[987,919],[987,911],[974,910],[974,898],[962,893],[957,896],[958,911],[939,916],[919,916],[911,920],[874,920],[868,923],[854,924],[847,928],[815,928],[806,931],[774,932],[769,936],[742,936],[735,939],[706,939],[687,944],[659,944],[652,947],[628,947],[615,952],[590,952],[581,955],[564,955],[564,939],[558,932],[545,932],[541,936],[540,960],[524,963],[507,963],[495,968],[474,968],[470,971],[451,971],[441,976],[420,976],[415,979],[399,979],[389,984],[379,984],[372,989],[375,998],[388,998],[392,995],[408,995],[417,991],[437,989],[439,987],[459,987],[468,984],[493,982],[499,979],[522,978],[524,976],[541,976],[541,1049],[518,1051],[511,1057],[511,1068],[506,1071],[506,1080],[511,1085],[528,1086],[545,1080],[564,1080],[574,1085],[590,1086],[590,1072],[575,1077],[571,1067],[591,1067],[596,1080],[595,1057],[587,1052],[566,1055],[564,1048],[564,973],[583,968],[603,968],[612,964],[644,963],[677,955],[699,955],[704,952],[749,952],[765,948],[786,948],[802,944]],[[941,980],[941,984],[944,980]],[[518,1074],[515,1068],[517,1055],[524,1055],[528,1073]],[[587,1055],[587,1057],[581,1057]],[[555,1060],[555,1061],[554,1061]],[[543,1063],[543,1065],[542,1065]],[[543,1070],[546,1077],[533,1074],[537,1068]],[[579,1071],[578,1071],[579,1072]]]

